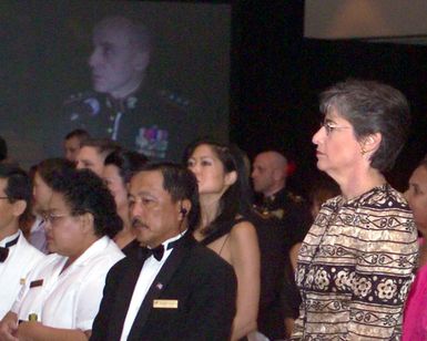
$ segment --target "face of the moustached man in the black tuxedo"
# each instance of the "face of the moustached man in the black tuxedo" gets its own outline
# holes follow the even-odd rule
[[[163,188],[160,170],[141,172],[132,177],[129,210],[141,245],[156,247],[180,232],[181,203],[174,203]]]

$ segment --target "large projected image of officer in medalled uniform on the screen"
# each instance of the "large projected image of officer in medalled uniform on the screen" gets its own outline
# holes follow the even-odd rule
[[[94,93],[63,103],[67,130],[83,128],[153,159],[179,159],[196,130],[186,116],[189,102],[146,84],[151,35],[139,22],[108,17],[93,30],[89,58]]]

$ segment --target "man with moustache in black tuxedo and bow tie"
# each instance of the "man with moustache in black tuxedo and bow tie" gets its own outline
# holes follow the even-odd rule
[[[232,267],[199,245],[197,183],[184,167],[144,166],[131,179],[140,257],[109,272],[91,340],[227,340],[235,314]]]

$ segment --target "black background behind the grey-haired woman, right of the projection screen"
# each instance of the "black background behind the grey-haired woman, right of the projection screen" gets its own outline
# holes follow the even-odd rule
[[[284,152],[297,165],[289,185],[305,193],[317,176],[311,140],[322,120],[318,93],[347,78],[383,81],[411,105],[409,141],[387,174],[405,189],[427,153],[426,46],[304,39],[304,1],[240,1],[233,9],[231,140],[251,157]]]

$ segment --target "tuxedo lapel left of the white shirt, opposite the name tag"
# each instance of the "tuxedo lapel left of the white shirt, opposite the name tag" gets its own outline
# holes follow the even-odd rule
[[[132,262],[130,262],[130,266],[126,268],[125,272],[122,273],[123,278],[119,279],[120,285],[116,289],[116,292],[114,292],[114,310],[111,312],[115,314],[115,318],[110,319],[110,326],[108,327],[111,331],[110,340],[120,340],[124,319],[126,318],[133,290],[136,286],[143,262],[143,260],[132,259]]]

